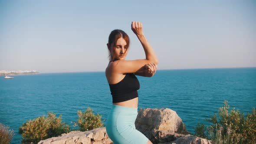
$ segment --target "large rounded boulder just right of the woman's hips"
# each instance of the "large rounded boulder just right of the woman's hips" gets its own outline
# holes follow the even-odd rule
[[[181,118],[169,108],[140,108],[135,126],[152,143],[173,141],[188,134]]]

